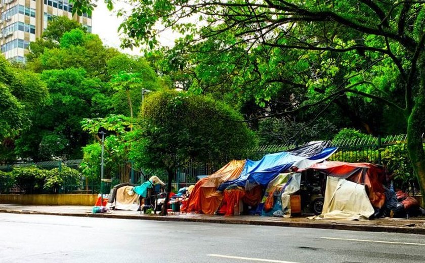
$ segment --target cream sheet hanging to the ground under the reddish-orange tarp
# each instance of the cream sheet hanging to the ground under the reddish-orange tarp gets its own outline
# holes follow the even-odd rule
[[[322,214],[311,218],[368,220],[374,209],[365,186],[345,179],[328,177]]]

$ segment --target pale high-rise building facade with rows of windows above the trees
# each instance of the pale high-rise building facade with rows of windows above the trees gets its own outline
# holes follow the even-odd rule
[[[11,61],[25,62],[29,43],[41,36],[55,16],[66,16],[92,30],[92,17],[72,16],[68,0],[0,0],[0,52]]]

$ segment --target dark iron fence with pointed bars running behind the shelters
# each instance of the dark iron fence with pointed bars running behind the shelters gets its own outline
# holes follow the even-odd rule
[[[378,164],[386,163],[386,154],[389,149],[396,145],[405,145],[406,135],[380,137],[366,137],[351,140],[339,140],[329,142],[329,146],[338,147],[338,150],[330,157],[330,160],[345,161],[345,162],[371,162]],[[422,135],[423,138],[423,135]],[[285,151],[296,147],[295,144],[281,145],[263,145],[254,148],[248,152],[247,158],[258,160],[265,154]],[[405,149],[404,149],[405,151]],[[397,154],[403,154],[398,151]],[[400,159],[402,160],[402,159]],[[0,165],[0,171],[11,171],[15,167],[37,166],[42,169],[55,169],[66,174],[67,169],[75,169],[79,172],[77,179],[63,177],[63,183],[57,189],[58,193],[98,193],[100,191],[100,175],[93,174],[91,177],[86,177],[82,173],[80,167],[82,160],[66,160],[66,161],[44,161],[44,162],[27,162]],[[198,176],[206,176],[220,169],[225,163],[222,162],[196,162],[189,160],[179,165],[176,169],[173,186],[178,188],[195,184],[198,181]],[[402,167],[403,166],[403,167]],[[401,168],[409,169],[411,165],[406,163],[392,163],[393,169],[400,170]],[[410,168],[411,170],[411,168]],[[411,171],[413,172],[413,171]],[[105,184],[104,192],[109,191],[111,186],[119,183],[141,184],[148,180],[151,176],[158,176],[164,182],[167,181],[167,173],[163,169],[138,169],[132,162],[124,164],[116,164],[109,166],[105,170],[105,178],[109,179],[109,183]],[[23,188],[19,185],[5,186],[4,178],[0,177],[0,193],[23,193]],[[412,191],[417,191],[418,186],[416,180],[405,182],[407,187]]]

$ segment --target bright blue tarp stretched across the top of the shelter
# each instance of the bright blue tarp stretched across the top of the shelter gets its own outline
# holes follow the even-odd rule
[[[224,191],[231,185],[245,187],[247,190],[256,185],[266,187],[279,173],[289,170],[292,166],[307,168],[316,162],[328,158],[336,149],[333,147],[325,148],[319,154],[309,157],[280,152],[267,154],[259,161],[246,160],[239,178],[221,184],[218,190]]]

